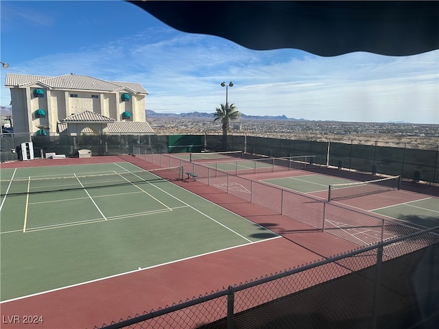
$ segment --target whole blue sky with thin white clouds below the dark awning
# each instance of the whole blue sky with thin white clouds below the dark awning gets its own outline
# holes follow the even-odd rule
[[[439,51],[415,56],[354,52],[321,57],[298,49],[254,51],[217,36],[180,32],[132,3],[0,1],[1,106],[5,73],[137,82],[158,113],[247,115],[439,124]]]

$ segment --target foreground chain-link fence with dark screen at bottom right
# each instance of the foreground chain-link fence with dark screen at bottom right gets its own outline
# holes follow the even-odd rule
[[[438,234],[418,230],[102,328],[434,328]]]

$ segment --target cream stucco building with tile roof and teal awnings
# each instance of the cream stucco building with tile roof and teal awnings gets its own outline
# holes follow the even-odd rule
[[[145,118],[147,91],[135,82],[73,73],[58,77],[7,73],[14,133],[154,134]]]

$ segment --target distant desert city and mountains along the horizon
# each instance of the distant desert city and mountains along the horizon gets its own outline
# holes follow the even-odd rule
[[[156,113],[145,110],[146,120],[157,134],[200,134],[221,133],[221,123],[213,121],[213,113]],[[2,126],[12,116],[10,107],[1,106]],[[12,117],[13,122],[13,117]],[[342,121],[309,121],[283,116],[249,116],[241,114],[241,119],[230,122],[231,134],[313,134],[318,136],[372,136],[385,135],[386,138],[399,139],[403,137],[433,138],[432,143],[439,141],[439,124],[422,123],[361,123]],[[438,141],[436,141],[436,139]]]

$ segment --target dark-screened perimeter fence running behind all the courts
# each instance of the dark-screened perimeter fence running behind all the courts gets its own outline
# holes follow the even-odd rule
[[[199,152],[202,149],[223,151],[222,135],[81,135],[29,136],[2,134],[1,161],[17,160],[11,149],[21,141],[34,142],[36,157],[46,152],[75,156],[78,149],[91,149],[93,156],[132,154],[136,147],[148,153]],[[303,141],[296,139],[230,135],[230,151],[246,151],[272,158],[287,156],[316,156],[320,165],[339,167],[367,173],[401,175],[410,180],[439,184],[439,145],[376,141]]]

